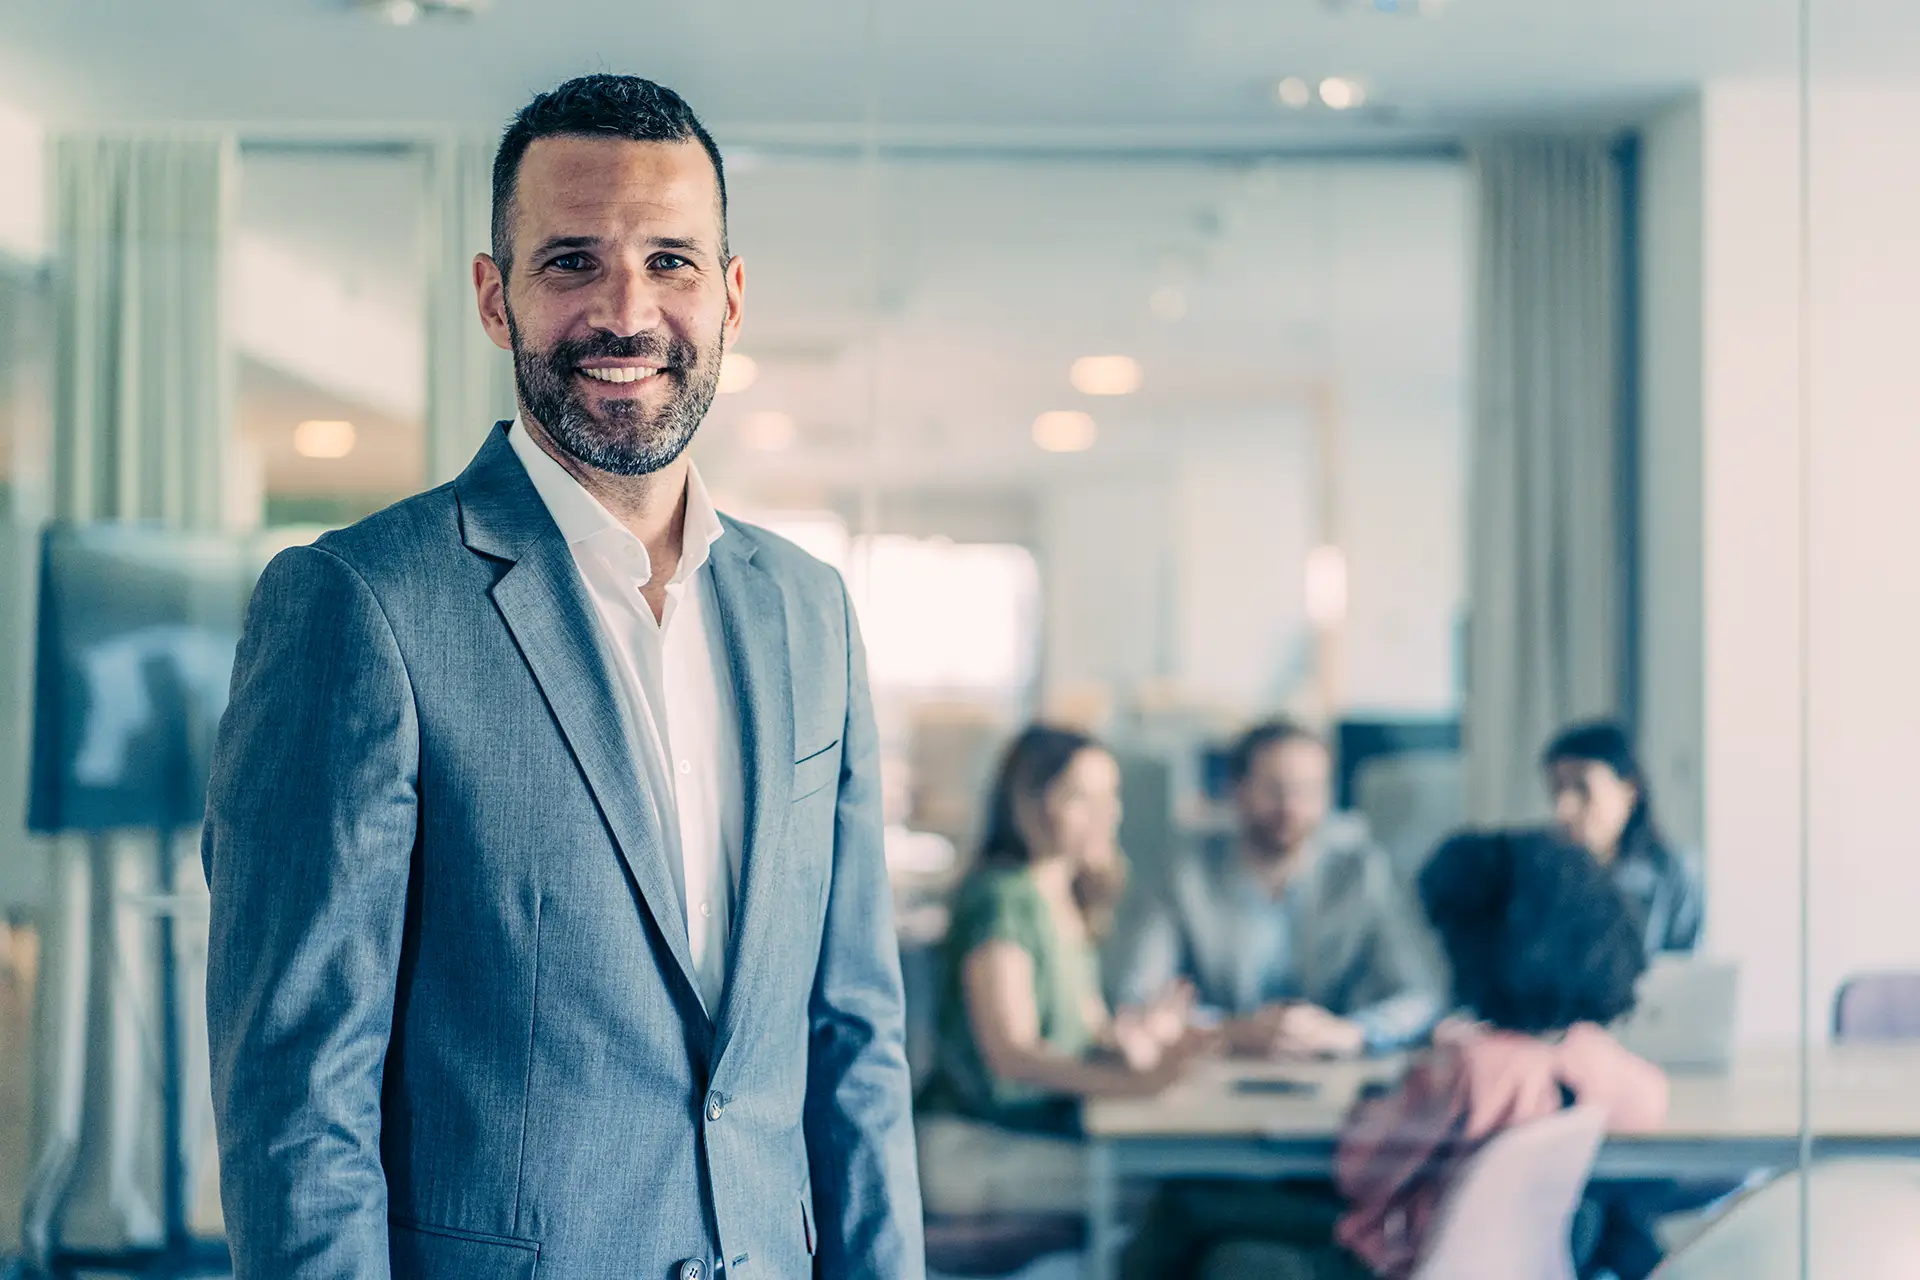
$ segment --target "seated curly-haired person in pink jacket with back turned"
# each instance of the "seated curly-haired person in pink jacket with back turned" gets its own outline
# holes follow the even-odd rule
[[[1139,1249],[1129,1278],[1404,1280],[1455,1174],[1501,1130],[1576,1103],[1605,1107],[1611,1132],[1665,1121],[1665,1073],[1605,1031],[1632,1009],[1647,961],[1638,921],[1592,858],[1546,833],[1455,837],[1421,873],[1421,902],[1463,1015],[1434,1031],[1396,1086],[1354,1107],[1334,1192],[1169,1196],[1148,1221],[1152,1247],[1200,1261],[1183,1270]]]

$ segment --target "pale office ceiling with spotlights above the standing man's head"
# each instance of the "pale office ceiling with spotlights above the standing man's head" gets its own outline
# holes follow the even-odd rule
[[[1256,144],[1388,127],[1286,113],[1284,75],[1359,75],[1392,129],[1430,130],[1632,113],[1797,54],[1797,0],[482,2],[392,27],[349,0],[4,0],[0,98],[54,121],[493,129],[541,86],[632,69],[735,140],[845,138],[872,107],[924,140]],[[1814,0],[1814,59],[1920,67],[1920,8]]]

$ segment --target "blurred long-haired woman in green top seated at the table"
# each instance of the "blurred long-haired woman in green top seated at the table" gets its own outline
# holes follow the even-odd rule
[[[1179,983],[1108,1013],[1094,944],[1125,889],[1119,766],[1035,725],[1000,760],[979,865],[954,894],[935,1065],[920,1096],[931,1213],[1079,1213],[1085,1098],[1173,1084],[1210,1036]]]

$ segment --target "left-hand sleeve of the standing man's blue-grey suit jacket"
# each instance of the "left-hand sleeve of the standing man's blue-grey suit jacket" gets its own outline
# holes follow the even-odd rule
[[[388,1274],[380,1084],[419,723],[372,591],[317,547],[248,608],[207,787],[207,1038],[236,1280]]]

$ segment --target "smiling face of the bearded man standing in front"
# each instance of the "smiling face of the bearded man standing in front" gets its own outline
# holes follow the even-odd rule
[[[513,351],[522,409],[595,470],[670,464],[712,405],[745,288],[722,257],[705,148],[538,138],[511,226],[505,280],[482,253],[474,290],[488,336]]]

